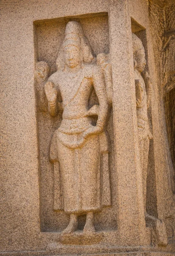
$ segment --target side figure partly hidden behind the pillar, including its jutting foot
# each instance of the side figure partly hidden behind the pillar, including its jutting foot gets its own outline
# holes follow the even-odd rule
[[[144,70],[146,65],[145,51],[143,44],[134,33],[132,33],[134,75],[135,75],[135,94],[138,121],[138,142],[140,150],[142,185],[143,185],[143,203],[146,218],[146,225],[152,228],[154,242],[159,245],[167,244],[166,228],[162,220],[149,215],[146,212],[146,178],[149,155],[149,140],[152,139],[152,133],[149,129],[149,119],[147,109],[151,99],[151,81],[149,74]]]

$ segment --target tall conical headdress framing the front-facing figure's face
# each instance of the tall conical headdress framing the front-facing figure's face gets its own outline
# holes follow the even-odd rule
[[[77,21],[69,21],[65,29],[65,38],[58,52],[57,70],[64,68],[63,49],[68,46],[75,46],[80,49],[82,61],[91,63],[94,59],[89,41],[83,34],[83,29]]]

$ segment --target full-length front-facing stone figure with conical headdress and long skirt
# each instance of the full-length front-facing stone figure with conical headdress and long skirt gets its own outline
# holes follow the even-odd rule
[[[89,109],[93,88],[99,104]],[[50,148],[58,179],[55,209],[70,215],[63,234],[77,230],[77,217],[82,214],[86,214],[83,232],[94,233],[94,212],[111,205],[108,141],[104,132],[108,102],[103,72],[95,64],[89,42],[76,21],[66,25],[57,72],[46,82],[45,93],[51,116],[63,108],[62,121]],[[58,96],[62,102],[58,102]],[[98,116],[95,126],[94,116]]]

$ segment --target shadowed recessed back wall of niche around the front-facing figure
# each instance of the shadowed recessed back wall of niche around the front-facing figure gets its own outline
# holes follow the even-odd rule
[[[57,70],[56,60],[59,47],[64,39],[66,24],[71,20],[78,21],[81,24],[84,35],[88,38],[95,57],[98,53],[109,53],[109,23],[106,13],[35,21],[35,61],[45,61],[49,64],[49,75],[55,73]],[[69,215],[64,211],[54,210],[54,168],[52,163],[49,162],[50,142],[54,131],[60,126],[60,122],[60,115],[51,117],[48,112],[42,112],[37,108],[38,150],[40,161],[40,221],[41,231],[43,232],[61,232],[69,224]],[[109,135],[109,175],[112,206],[105,207],[100,212],[95,213],[96,230],[117,229],[117,178],[114,159],[112,108],[108,116],[106,131]],[[85,215],[80,215],[79,230],[83,230],[85,221]]]

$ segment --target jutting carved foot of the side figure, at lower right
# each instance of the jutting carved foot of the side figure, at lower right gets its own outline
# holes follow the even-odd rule
[[[146,226],[153,229],[153,240],[156,244],[166,246],[168,243],[164,221],[145,213]]]

